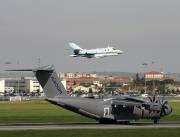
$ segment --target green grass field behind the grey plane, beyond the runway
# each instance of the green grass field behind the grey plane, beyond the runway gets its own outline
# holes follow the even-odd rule
[[[180,121],[180,102],[170,102],[173,112],[161,121]],[[151,121],[151,120],[140,120]],[[95,122],[46,101],[0,102],[0,123]]]

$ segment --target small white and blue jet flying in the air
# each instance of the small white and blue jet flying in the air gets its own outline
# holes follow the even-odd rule
[[[97,48],[97,49],[82,49],[75,43],[69,43],[74,54],[70,55],[70,57],[86,57],[86,58],[104,58],[109,56],[117,56],[122,54],[123,51],[116,50],[113,47],[107,48]]]

